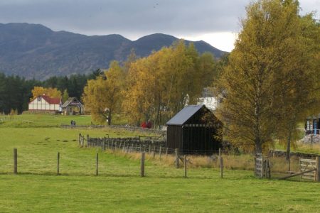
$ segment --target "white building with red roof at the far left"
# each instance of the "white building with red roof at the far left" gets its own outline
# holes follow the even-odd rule
[[[29,111],[52,111],[60,112],[61,111],[61,99],[60,98],[51,98],[43,94],[34,98],[28,104]]]

